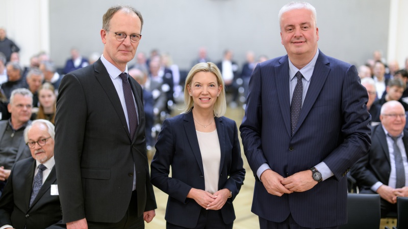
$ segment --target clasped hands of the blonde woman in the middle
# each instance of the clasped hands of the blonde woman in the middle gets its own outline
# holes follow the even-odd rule
[[[214,194],[201,189],[191,188],[187,194],[187,198],[194,199],[197,204],[206,210],[221,209],[226,203],[228,196],[230,196],[230,190],[226,188],[218,190]]]

